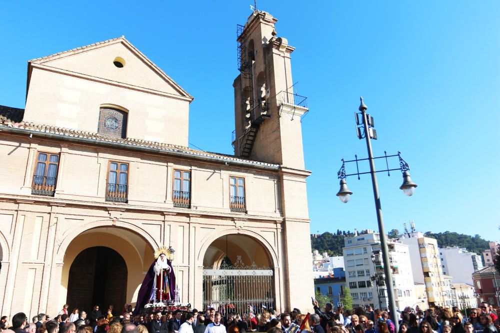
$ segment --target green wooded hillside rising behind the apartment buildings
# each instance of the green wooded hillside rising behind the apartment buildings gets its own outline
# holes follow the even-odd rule
[[[397,230],[391,230],[391,232],[397,234]],[[344,246],[344,237],[352,235],[353,233],[350,231],[340,230],[337,230],[334,234],[325,232],[317,236],[311,235],[311,247],[312,250],[318,250],[320,253],[327,252],[329,256],[341,256],[342,247]],[[475,252],[478,255],[488,248],[488,242],[479,237],[479,235],[470,236],[449,231],[434,234],[428,231],[425,233],[425,236],[435,238],[437,240],[437,246],[440,248],[459,246],[470,252]]]

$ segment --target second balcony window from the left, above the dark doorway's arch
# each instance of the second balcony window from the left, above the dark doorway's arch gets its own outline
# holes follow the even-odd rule
[[[127,202],[128,163],[109,161],[106,201]]]

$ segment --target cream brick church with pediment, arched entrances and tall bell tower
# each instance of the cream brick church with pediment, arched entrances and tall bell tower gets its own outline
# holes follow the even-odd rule
[[[187,147],[193,97],[124,37],[28,61],[25,108],[0,106],[2,315],[134,305],[163,245],[181,302],[213,301],[228,258],[272,271],[277,310],[310,308],[308,110],[275,22],[241,27],[234,155]]]

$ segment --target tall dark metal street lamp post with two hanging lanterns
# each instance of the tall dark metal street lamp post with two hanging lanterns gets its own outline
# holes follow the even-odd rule
[[[415,183],[413,183],[410,179],[409,175],[409,166],[408,164],[401,158],[400,153],[398,152],[397,155],[389,155],[385,153],[385,156],[380,156],[380,157],[373,157],[373,152],[371,151],[371,142],[370,138],[376,139],[376,131],[373,128],[373,118],[371,116],[368,116],[366,114],[366,110],[368,109],[366,105],[363,103],[363,98],[360,98],[360,105],[359,105],[359,111],[361,111],[361,118],[362,118],[362,123],[359,123],[359,118],[358,118],[358,113],[356,113],[356,124],[357,124],[357,136],[359,139],[364,139],[366,140],[366,150],[368,151],[368,158],[367,159],[358,159],[356,156],[355,160],[352,161],[344,161],[342,159],[342,166],[340,167],[340,170],[338,171],[338,178],[340,178],[340,190],[337,193],[337,196],[339,197],[340,201],[343,203],[346,203],[350,199],[350,195],[352,192],[347,188],[347,182],[345,181],[345,178],[347,176],[351,175],[357,175],[359,179],[359,175],[361,174],[367,174],[369,173],[371,175],[371,184],[373,187],[373,198],[375,200],[375,211],[376,211],[376,217],[377,217],[377,223],[378,223],[378,232],[380,236],[380,248],[382,252],[382,262],[383,262],[383,271],[385,274],[385,286],[387,287],[387,299],[388,299],[388,309],[393,317],[393,322],[395,326],[395,332],[398,331],[398,322],[396,319],[396,303],[395,303],[395,295],[394,295],[394,288],[392,284],[392,275],[391,275],[391,270],[390,270],[390,261],[389,261],[389,250],[387,247],[387,236],[385,234],[385,229],[383,226],[383,218],[382,218],[382,208],[380,205],[380,195],[378,193],[378,184],[376,180],[376,173],[377,172],[387,172],[388,175],[390,176],[390,171],[393,170],[400,170],[402,172],[403,176],[403,183],[399,187],[403,191],[403,193],[407,196],[413,195],[415,191],[415,187],[417,186]],[[363,129],[363,133],[361,133],[360,129]],[[388,168],[388,163],[387,163],[387,158],[390,157],[395,157],[397,156],[399,158],[399,168],[397,169],[389,169]],[[375,163],[374,159],[376,158],[385,158],[387,169],[386,170],[375,170]],[[363,161],[363,160],[368,160],[369,166],[370,166],[370,171],[369,172],[359,172],[358,168],[358,161]],[[348,162],[356,162],[356,167],[357,167],[357,172],[353,174],[346,174],[345,173],[345,163]]]

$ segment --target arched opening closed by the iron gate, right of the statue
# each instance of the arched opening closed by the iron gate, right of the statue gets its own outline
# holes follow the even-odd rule
[[[203,257],[203,309],[237,313],[259,313],[262,306],[275,309],[272,266],[269,253],[253,237],[219,237]]]

